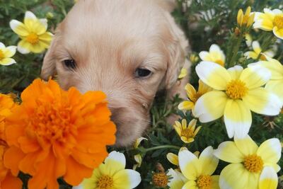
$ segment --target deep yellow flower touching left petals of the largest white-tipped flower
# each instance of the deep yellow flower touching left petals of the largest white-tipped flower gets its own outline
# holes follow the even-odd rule
[[[191,84],[185,86],[185,91],[187,92],[187,98],[189,101],[183,101],[178,105],[179,110],[194,110],[195,103],[205,93],[212,91],[212,88],[204,84],[202,81],[199,81],[198,91],[195,91],[195,88]]]

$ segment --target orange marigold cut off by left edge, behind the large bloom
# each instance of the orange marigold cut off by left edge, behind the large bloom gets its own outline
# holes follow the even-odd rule
[[[14,106],[13,99],[10,96],[0,94],[0,189],[21,189],[21,179],[13,176],[11,171],[4,166],[4,153],[8,149],[5,141],[5,120],[11,115],[11,108]]]

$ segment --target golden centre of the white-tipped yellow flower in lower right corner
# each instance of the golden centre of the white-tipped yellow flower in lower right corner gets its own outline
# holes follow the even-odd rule
[[[245,157],[243,166],[252,173],[258,173],[262,171],[263,161],[260,156],[253,154]]]

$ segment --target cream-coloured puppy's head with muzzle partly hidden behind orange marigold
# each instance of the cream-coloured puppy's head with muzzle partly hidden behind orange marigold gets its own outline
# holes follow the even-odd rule
[[[141,136],[156,91],[171,88],[184,62],[183,33],[159,2],[80,0],[43,62],[43,79],[57,74],[66,90],[108,95],[118,146]]]

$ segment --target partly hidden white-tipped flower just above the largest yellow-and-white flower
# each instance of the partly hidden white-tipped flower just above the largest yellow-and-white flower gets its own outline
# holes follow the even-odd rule
[[[216,44],[210,46],[209,52],[207,51],[200,52],[200,59],[204,61],[215,62],[221,65],[222,67],[224,67],[225,64],[224,52]]]

